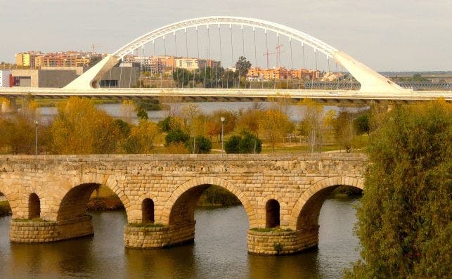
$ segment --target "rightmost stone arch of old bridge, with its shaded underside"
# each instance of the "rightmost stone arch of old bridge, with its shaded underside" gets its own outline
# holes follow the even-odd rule
[[[351,186],[364,190],[363,179],[356,177],[333,176],[316,182],[305,190],[295,203],[290,215],[290,228],[297,230],[318,228],[318,215],[323,202],[338,186]]]

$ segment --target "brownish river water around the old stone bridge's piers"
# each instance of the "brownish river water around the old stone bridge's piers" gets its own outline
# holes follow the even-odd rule
[[[124,247],[125,213],[94,212],[92,237],[23,245],[8,240],[11,217],[0,217],[0,278],[342,278],[359,259],[354,205],[323,204],[318,249],[290,256],[247,254],[243,207],[198,209],[195,243],[169,249]]]

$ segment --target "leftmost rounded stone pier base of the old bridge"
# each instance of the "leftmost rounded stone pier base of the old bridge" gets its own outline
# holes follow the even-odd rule
[[[65,221],[14,221],[10,223],[11,242],[54,242],[93,235],[92,217],[85,215]]]

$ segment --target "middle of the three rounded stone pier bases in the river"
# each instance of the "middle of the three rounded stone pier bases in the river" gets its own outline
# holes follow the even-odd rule
[[[195,222],[172,226],[131,226],[124,228],[124,244],[129,248],[164,248],[195,240]]]

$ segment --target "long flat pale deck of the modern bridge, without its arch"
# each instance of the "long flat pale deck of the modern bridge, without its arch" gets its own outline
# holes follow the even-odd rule
[[[153,99],[173,96],[188,101],[264,101],[269,98],[288,97],[294,100],[312,98],[320,103],[412,103],[420,100],[444,98],[452,100],[452,91],[412,91],[409,93],[372,93],[346,90],[297,89],[92,89],[70,90],[54,88],[4,88],[0,97],[68,98],[83,96],[99,99]]]

